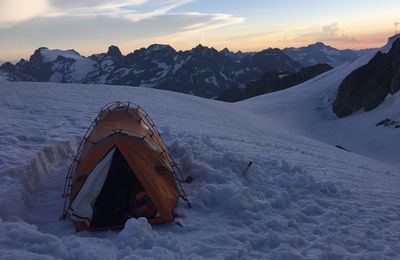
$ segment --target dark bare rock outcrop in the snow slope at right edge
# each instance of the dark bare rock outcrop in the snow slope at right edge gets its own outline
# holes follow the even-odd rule
[[[387,54],[378,52],[370,62],[353,71],[339,86],[332,110],[338,117],[357,110],[370,111],[388,94],[400,90],[400,39]]]

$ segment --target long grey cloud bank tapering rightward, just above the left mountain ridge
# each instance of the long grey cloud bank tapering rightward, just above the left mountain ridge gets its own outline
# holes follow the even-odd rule
[[[16,53],[26,50],[27,57],[40,46],[75,48],[83,54],[105,51],[116,44],[125,52],[161,41],[173,44],[171,37],[180,35],[191,41],[191,35],[237,23],[241,19],[221,14],[166,14],[152,19],[132,22],[109,16],[95,17],[38,17],[21,22],[12,28],[0,28],[0,50]],[[20,54],[13,54],[20,58]]]

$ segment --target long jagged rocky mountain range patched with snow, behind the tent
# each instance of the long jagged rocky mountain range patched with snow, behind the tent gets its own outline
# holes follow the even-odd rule
[[[233,53],[198,45],[177,52],[169,45],[153,44],[126,56],[116,46],[89,57],[42,47],[28,61],[0,68],[0,74],[11,81],[118,84],[215,98],[227,89],[245,87],[267,71],[294,72],[301,67],[279,49]]]

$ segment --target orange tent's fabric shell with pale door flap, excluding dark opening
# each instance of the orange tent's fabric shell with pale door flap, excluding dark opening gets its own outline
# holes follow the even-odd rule
[[[92,217],[90,207],[99,195],[104,171],[110,167],[107,160],[115,149],[121,152],[158,211],[157,217],[149,222],[173,221],[173,209],[180,194],[167,147],[138,107],[117,105],[100,111],[72,167],[69,214],[82,217],[73,218],[78,229],[90,230],[87,223]]]

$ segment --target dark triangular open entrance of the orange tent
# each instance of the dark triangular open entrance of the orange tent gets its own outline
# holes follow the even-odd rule
[[[90,228],[123,226],[130,218],[127,212],[132,207],[132,199],[143,191],[135,173],[121,152],[116,149],[106,181],[93,206]]]

